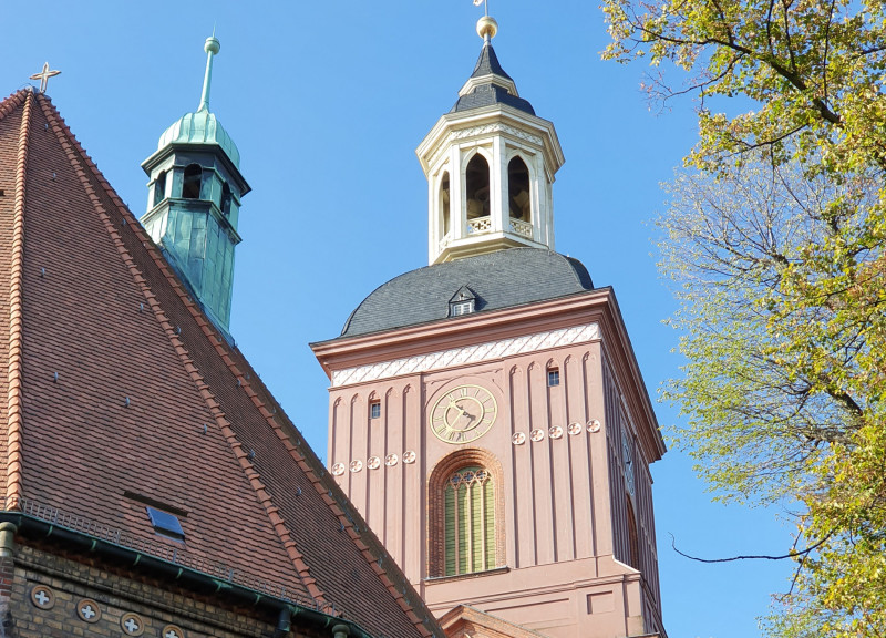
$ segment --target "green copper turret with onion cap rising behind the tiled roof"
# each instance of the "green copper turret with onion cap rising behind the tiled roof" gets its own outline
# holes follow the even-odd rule
[[[209,111],[218,39],[207,38],[204,50],[206,73],[197,111],[173,123],[142,164],[150,176],[142,224],[216,327],[227,333],[240,198],[249,185],[240,174],[236,144]]]

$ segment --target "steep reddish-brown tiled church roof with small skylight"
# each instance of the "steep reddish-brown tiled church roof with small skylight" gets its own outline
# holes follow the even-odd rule
[[[48,97],[0,102],[0,454],[44,503],[286,587],[373,636],[440,631]],[[8,444],[7,444],[8,442]],[[178,514],[157,536],[145,503]]]

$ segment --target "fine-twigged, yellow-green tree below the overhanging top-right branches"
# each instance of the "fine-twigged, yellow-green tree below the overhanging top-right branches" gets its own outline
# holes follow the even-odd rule
[[[886,291],[874,256],[886,237],[864,230],[879,178],[806,173],[756,151],[669,186],[660,266],[687,364],[664,394],[688,416],[678,444],[721,498],[799,511],[797,573],[772,632],[857,636],[856,615],[874,610],[861,635],[880,636]]]

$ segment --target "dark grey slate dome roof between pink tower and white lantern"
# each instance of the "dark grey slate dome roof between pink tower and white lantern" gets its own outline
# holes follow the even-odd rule
[[[464,288],[476,312],[501,310],[593,290],[587,268],[543,248],[508,248],[394,277],[351,312],[342,337],[393,330],[450,317],[450,301]]]

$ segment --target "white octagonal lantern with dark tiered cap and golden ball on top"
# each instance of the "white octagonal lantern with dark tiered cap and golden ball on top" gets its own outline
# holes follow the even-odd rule
[[[517,246],[554,249],[552,185],[564,163],[554,124],[536,116],[483,38],[474,71],[416,150],[429,183],[429,263]]]

